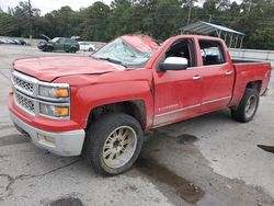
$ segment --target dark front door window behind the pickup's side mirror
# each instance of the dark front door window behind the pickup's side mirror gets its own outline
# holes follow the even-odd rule
[[[168,57],[182,57],[187,59],[189,67],[195,67],[195,54],[193,43],[190,39],[180,39],[174,42],[165,53]]]

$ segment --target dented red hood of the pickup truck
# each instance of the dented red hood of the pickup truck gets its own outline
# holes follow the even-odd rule
[[[124,70],[121,65],[91,57],[35,57],[18,59],[13,62],[15,70],[44,81],[72,75],[100,75]]]

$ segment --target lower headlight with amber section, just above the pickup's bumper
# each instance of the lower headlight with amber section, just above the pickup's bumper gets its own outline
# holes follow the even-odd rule
[[[69,117],[69,106],[39,103],[39,113],[52,117]]]

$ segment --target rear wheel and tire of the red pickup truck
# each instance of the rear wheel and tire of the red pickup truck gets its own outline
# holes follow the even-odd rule
[[[256,113],[259,102],[259,92],[254,89],[247,89],[238,108],[231,110],[232,118],[240,123],[252,121]]]

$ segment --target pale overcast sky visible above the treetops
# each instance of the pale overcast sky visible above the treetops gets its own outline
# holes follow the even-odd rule
[[[19,1],[24,0],[0,0],[0,8],[7,11],[9,7],[14,8],[19,4]],[[25,0],[26,1],[26,0]],[[41,10],[42,14],[48,13],[53,10],[58,10],[64,5],[69,5],[72,10],[79,10],[80,8],[87,8],[98,0],[31,0],[34,8]],[[110,4],[112,0],[101,0],[102,2]],[[240,2],[241,0],[236,0]],[[198,4],[202,4],[204,0],[199,0]]]

